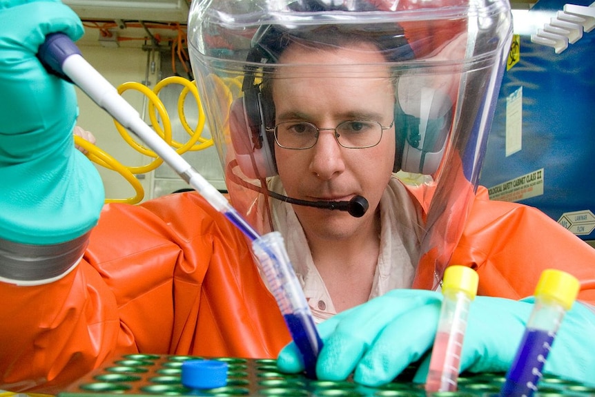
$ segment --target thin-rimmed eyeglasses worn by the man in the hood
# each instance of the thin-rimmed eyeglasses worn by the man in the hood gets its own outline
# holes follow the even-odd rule
[[[277,145],[286,149],[303,150],[312,148],[318,142],[320,131],[333,131],[338,144],[344,148],[362,149],[378,145],[382,139],[382,131],[393,127],[395,120],[390,126],[382,126],[379,122],[362,122],[360,120],[349,120],[342,122],[335,128],[318,128],[308,122],[282,122],[275,128],[267,128],[269,132],[275,133]]]

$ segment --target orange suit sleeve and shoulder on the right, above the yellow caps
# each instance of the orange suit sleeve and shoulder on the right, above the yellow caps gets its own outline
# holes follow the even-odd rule
[[[479,194],[451,264],[478,271],[478,294],[511,299],[531,296],[543,270],[560,269],[580,280],[578,300],[595,304],[595,249],[523,204]]]

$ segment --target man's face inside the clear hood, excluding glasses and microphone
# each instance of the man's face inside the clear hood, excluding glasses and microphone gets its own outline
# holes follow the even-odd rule
[[[356,119],[389,126],[395,96],[383,62],[367,43],[333,50],[290,46],[280,64],[295,67],[278,68],[272,83],[275,123],[310,122],[318,128],[335,128]],[[289,197],[318,201],[362,195],[368,200],[369,211],[361,218],[344,211],[293,207],[306,235],[347,238],[362,222],[373,220],[393,169],[395,128],[384,130],[380,143],[371,148],[344,148],[332,130],[322,130],[313,148],[291,150],[275,144],[275,157]]]

